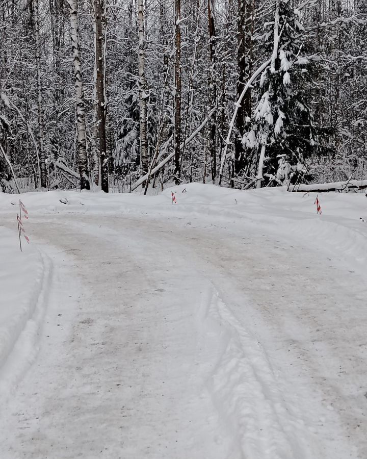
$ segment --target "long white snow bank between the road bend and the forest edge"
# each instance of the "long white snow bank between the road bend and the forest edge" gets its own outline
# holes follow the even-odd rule
[[[172,205],[171,192],[177,204]],[[363,268],[367,262],[367,199],[364,193],[319,193],[322,215],[317,215],[316,193],[290,193],[286,188],[239,191],[198,183],[172,186],[155,196],[142,193],[51,191],[21,195],[33,215],[114,215],[126,213],[160,216],[190,214],[216,217],[218,222],[241,224],[271,231],[279,237],[313,248],[335,250]],[[0,214],[14,210],[18,196],[0,193]],[[365,221],[363,221],[365,220]]]

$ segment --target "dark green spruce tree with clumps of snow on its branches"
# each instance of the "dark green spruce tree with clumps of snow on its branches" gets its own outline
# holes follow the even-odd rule
[[[282,184],[314,145],[310,63],[303,53],[304,29],[292,5],[277,0],[274,21],[267,26],[271,32],[265,35],[264,47],[271,64],[261,75],[257,104],[243,136],[244,146],[257,151],[257,188]]]

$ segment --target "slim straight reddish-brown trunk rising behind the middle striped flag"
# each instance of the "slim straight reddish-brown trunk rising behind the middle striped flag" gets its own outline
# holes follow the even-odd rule
[[[179,184],[180,177],[180,142],[181,142],[181,0],[175,0],[175,182]]]

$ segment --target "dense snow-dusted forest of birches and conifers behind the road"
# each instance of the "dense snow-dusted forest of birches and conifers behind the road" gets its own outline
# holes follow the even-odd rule
[[[0,17],[3,191],[367,179],[367,0],[0,0]]]

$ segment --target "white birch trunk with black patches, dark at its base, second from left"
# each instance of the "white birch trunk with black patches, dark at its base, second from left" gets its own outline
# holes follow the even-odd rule
[[[90,190],[85,126],[85,103],[83,91],[82,65],[78,27],[77,0],[68,0],[70,6],[70,36],[74,62],[74,86],[76,100],[77,157],[79,162],[80,185],[82,190]]]

